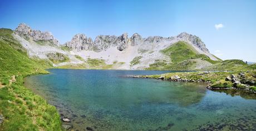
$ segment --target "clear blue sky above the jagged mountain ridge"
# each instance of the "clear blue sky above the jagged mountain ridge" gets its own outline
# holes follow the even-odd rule
[[[199,36],[221,59],[256,62],[256,1],[0,1],[0,27],[19,23],[65,43],[77,33]],[[222,25],[222,27],[221,27]],[[216,26],[216,27],[215,27]]]

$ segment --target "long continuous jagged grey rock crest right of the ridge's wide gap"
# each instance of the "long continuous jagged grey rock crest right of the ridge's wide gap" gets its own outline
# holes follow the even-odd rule
[[[209,50],[205,47],[205,44],[198,36],[191,35],[188,33],[181,33],[175,37],[164,38],[161,36],[149,36],[144,39],[139,34],[135,33],[130,38],[127,33],[120,36],[115,35],[99,35],[96,37],[95,41],[92,42],[91,38],[87,38],[84,34],[77,34],[73,36],[72,40],[67,42],[65,46],[72,50],[94,50],[94,51],[104,51],[110,47],[117,47],[117,50],[125,50],[128,45],[136,46],[140,44],[150,44],[150,43],[171,43],[171,40],[176,41],[186,41],[193,44],[205,53],[209,53]]]

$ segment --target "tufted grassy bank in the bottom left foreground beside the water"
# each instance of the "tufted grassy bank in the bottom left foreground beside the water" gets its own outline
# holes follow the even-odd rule
[[[22,75],[0,89],[0,114],[0,130],[61,130],[56,108],[24,87]]]

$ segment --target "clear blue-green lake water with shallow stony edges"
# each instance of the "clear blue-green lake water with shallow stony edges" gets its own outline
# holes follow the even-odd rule
[[[170,71],[51,69],[25,85],[55,105],[73,129],[255,130],[256,96],[126,75]],[[241,97],[242,96],[242,97]]]

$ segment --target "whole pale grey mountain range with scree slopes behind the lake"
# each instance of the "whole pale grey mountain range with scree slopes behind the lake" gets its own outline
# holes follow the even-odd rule
[[[137,33],[130,38],[126,33],[120,36],[99,35],[94,41],[84,34],[76,34],[71,41],[59,45],[58,40],[50,32],[32,30],[22,23],[12,35],[27,50],[29,57],[49,60],[53,66],[63,68],[171,70],[178,69],[174,64],[185,64],[179,66],[179,70],[196,70],[211,66],[214,61],[220,61],[209,53],[198,36],[188,33],[169,38],[161,36],[142,38]],[[186,44],[176,44],[180,41]],[[177,49],[170,53],[168,48],[173,44]],[[181,58],[180,56],[184,54],[185,56]],[[155,66],[159,62],[163,64],[163,61],[168,67],[166,65],[154,67],[154,64]],[[101,64],[95,66],[92,62]]]

